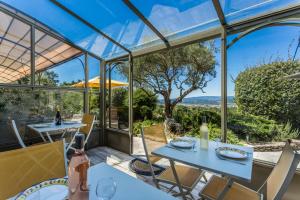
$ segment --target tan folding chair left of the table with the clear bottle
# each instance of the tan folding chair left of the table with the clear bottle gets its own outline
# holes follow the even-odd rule
[[[201,169],[188,167],[185,165],[171,164],[171,167],[166,168],[161,174],[156,176],[152,165],[157,161],[161,160],[162,157],[153,155],[152,151],[158,147],[167,144],[167,139],[164,134],[164,127],[163,125],[159,124],[151,127],[142,128],[141,134],[142,134],[145,154],[156,187],[160,188],[159,185],[160,182],[170,184],[171,187],[169,188],[168,191],[170,192],[176,186],[181,188],[181,185],[179,185],[177,182],[177,179],[179,179],[180,183],[182,184],[182,188],[185,191],[183,191],[183,189],[180,189],[180,193],[176,194],[175,196],[184,195],[184,194],[191,195],[191,191],[194,189],[194,187],[197,185],[197,183],[204,175],[204,171],[202,171]],[[177,174],[174,173],[174,170],[176,170]]]

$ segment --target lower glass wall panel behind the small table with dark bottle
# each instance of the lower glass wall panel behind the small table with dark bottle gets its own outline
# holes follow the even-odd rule
[[[82,119],[83,92],[40,89],[0,89],[0,149],[16,148],[17,139],[9,120],[17,123],[26,144],[41,141],[38,133],[28,124],[53,122],[56,110],[60,109],[63,120]],[[61,133],[58,133],[60,135]]]

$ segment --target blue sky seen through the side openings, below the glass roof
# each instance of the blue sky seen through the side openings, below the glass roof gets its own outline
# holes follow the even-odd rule
[[[235,78],[239,72],[247,67],[253,67],[261,63],[267,63],[277,58],[286,60],[290,51],[291,56],[294,54],[300,29],[298,27],[270,27],[253,32],[243,39],[239,40],[228,49],[228,95],[234,96],[234,84],[231,77]],[[232,40],[235,35],[229,36],[228,41]],[[215,40],[215,45],[220,48],[220,39]],[[220,74],[220,53],[215,54],[219,65],[216,65],[217,76],[208,83],[205,93],[197,90],[192,92],[188,97],[195,96],[220,96],[221,95],[221,74]],[[300,58],[298,53],[297,58]],[[82,59],[82,58],[81,58]],[[96,59],[89,59],[90,75],[93,78],[99,75],[99,62]],[[83,68],[78,60],[66,63],[54,70],[61,77],[61,81],[77,81],[83,79]],[[112,73],[114,80],[126,81],[124,77]],[[172,98],[178,96],[179,92],[174,89]]]

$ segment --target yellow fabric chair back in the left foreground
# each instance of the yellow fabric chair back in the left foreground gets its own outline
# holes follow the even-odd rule
[[[66,174],[64,141],[1,152],[0,199]]]

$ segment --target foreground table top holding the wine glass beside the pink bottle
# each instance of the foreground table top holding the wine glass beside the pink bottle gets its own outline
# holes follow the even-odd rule
[[[112,200],[175,200],[176,198],[131,177],[106,163],[94,165],[88,170],[89,199],[97,199],[96,185],[100,178],[112,177],[117,183],[117,190]]]

